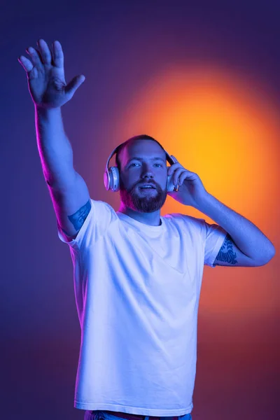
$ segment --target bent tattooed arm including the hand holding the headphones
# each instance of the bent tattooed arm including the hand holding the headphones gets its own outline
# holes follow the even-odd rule
[[[193,206],[209,216],[220,225],[230,237],[225,238],[219,260],[230,260],[230,264],[236,264],[235,253],[241,251],[243,258],[241,266],[265,265],[275,255],[275,248],[271,241],[252,222],[238,214],[236,211],[225,206],[213,195],[209,194],[195,172],[190,172],[172,156],[173,164],[167,168],[167,175],[172,176],[176,190],[169,192],[174,200],[186,206]],[[234,244],[231,244],[231,240]],[[240,253],[239,253],[240,254]],[[238,255],[239,258],[242,255]],[[239,262],[240,266],[240,262]]]

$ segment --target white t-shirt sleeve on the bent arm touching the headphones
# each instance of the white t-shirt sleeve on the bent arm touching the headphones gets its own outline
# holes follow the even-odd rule
[[[202,224],[203,237],[205,241],[204,246],[204,265],[215,268],[216,264],[214,261],[220,251],[227,233],[220,225],[213,223],[210,225],[204,219],[201,219],[204,223]]]

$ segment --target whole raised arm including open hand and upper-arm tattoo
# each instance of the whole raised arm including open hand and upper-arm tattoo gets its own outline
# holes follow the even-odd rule
[[[73,168],[73,151],[64,132],[61,107],[73,97],[85,76],[75,76],[67,84],[61,43],[54,41],[49,48],[40,38],[37,45],[27,48],[29,59],[20,55],[18,61],[26,71],[35,106],[38,152],[57,221],[73,238],[89,213],[91,201],[85,181]]]

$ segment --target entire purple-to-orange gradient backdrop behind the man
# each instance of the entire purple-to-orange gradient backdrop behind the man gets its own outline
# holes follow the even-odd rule
[[[279,419],[280,6],[262,1],[5,1],[1,45],[1,419],[74,420],[80,325],[69,246],[36,146],[25,48],[62,43],[62,110],[94,200],[116,146],[149,134],[267,235],[262,267],[204,267],[193,420]],[[111,160],[115,165],[115,158]],[[161,214],[206,215],[167,197]]]

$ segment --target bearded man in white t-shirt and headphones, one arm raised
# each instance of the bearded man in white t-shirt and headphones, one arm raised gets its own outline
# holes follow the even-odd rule
[[[243,216],[208,193],[147,135],[120,145],[118,211],[92,200],[73,169],[61,106],[83,77],[66,85],[58,41],[20,56],[36,111],[36,134],[59,239],[69,245],[81,327],[74,407],[85,419],[151,420],[193,409],[197,311],[204,265],[265,265],[274,246]],[[167,191],[168,177],[177,190]],[[151,187],[151,188],[150,188]],[[167,195],[216,224],[184,214],[160,216]]]

